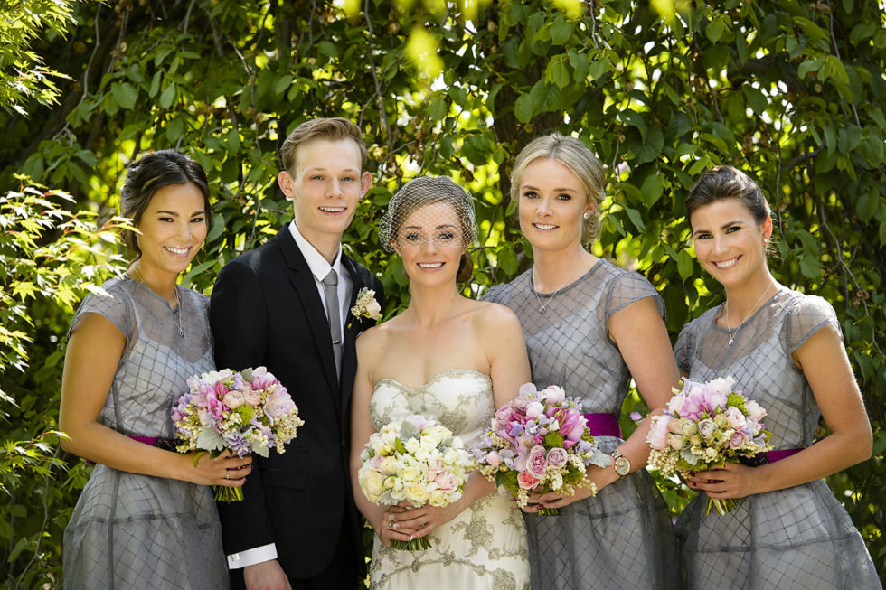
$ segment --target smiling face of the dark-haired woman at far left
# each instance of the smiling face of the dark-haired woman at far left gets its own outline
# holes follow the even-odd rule
[[[144,276],[179,273],[191,264],[206,239],[203,192],[193,183],[170,184],[154,193],[137,229]]]

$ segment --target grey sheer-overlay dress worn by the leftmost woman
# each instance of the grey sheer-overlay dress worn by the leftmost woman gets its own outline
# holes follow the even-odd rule
[[[87,296],[71,323],[100,314],[127,337],[99,421],[124,435],[172,437],[169,416],[186,379],[214,369],[209,301],[176,287],[182,304],[171,310],[128,277],[102,287],[108,295]],[[64,533],[65,588],[227,585],[211,488],[95,466]]]

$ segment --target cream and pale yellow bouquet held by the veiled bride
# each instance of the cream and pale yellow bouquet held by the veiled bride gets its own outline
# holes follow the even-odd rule
[[[357,482],[369,501],[401,501],[419,508],[427,502],[443,507],[461,498],[470,461],[461,440],[446,426],[421,416],[393,420],[369,437],[360,454]],[[427,537],[393,541],[391,547],[427,549]]]

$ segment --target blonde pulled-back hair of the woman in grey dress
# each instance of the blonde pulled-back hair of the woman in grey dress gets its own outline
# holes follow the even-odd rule
[[[563,136],[559,133],[551,133],[547,136],[536,137],[529,142],[514,160],[514,169],[511,171],[511,200],[518,201],[520,196],[520,177],[533,161],[538,158],[549,158],[563,164],[570,169],[579,179],[585,190],[588,203],[593,203],[594,211],[590,212],[588,219],[581,220],[581,241],[592,242],[597,238],[600,230],[600,204],[603,202],[603,187],[605,177],[603,164],[597,156],[590,151],[575,137]]]

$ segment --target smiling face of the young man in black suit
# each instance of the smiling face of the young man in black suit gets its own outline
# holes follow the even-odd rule
[[[372,175],[361,172],[353,139],[317,138],[298,145],[294,170],[279,173],[278,183],[292,201],[298,231],[321,254],[335,255]]]

